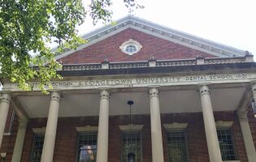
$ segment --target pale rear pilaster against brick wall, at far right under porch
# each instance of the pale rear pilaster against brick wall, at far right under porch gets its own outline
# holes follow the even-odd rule
[[[254,139],[249,129],[249,122],[247,117],[247,112],[237,112],[239,117],[239,122],[241,126],[241,132],[243,134],[243,139],[245,143],[245,151],[247,154],[248,162],[255,162],[256,151],[254,147]]]

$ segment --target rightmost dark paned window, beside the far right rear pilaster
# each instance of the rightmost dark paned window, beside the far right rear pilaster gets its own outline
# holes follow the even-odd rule
[[[236,160],[231,130],[217,130],[222,160]]]

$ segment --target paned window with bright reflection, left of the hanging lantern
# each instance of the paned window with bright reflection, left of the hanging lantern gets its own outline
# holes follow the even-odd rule
[[[97,133],[80,132],[77,137],[76,162],[95,162],[97,153]]]

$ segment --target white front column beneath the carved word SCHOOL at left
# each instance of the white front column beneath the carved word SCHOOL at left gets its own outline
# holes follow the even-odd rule
[[[59,115],[59,92],[52,92],[50,108],[46,125],[44,146],[41,153],[41,162],[52,162],[54,157],[54,144]],[[68,143],[68,141],[67,141]]]

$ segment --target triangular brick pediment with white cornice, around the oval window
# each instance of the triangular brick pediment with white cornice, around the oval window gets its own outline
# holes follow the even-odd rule
[[[150,58],[158,60],[204,58],[228,58],[245,56],[245,51],[184,32],[166,28],[156,23],[127,16],[82,36],[89,42],[76,50],[59,53],[55,58],[63,64],[109,62],[136,62]],[[132,39],[140,42],[142,48],[132,56],[123,53],[119,47]]]

